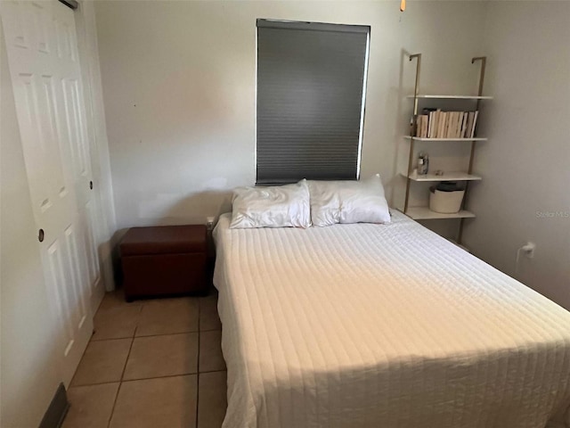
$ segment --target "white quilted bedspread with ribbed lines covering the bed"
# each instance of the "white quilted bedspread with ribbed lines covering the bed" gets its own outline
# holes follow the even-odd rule
[[[542,428],[570,403],[570,313],[395,213],[216,226],[224,428]]]

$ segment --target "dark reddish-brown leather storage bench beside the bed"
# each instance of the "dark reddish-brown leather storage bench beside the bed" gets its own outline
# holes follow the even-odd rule
[[[119,249],[128,301],[208,290],[206,226],[132,227]]]

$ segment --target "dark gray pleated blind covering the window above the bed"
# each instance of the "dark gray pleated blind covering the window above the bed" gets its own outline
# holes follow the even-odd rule
[[[358,178],[369,35],[257,20],[257,184]]]

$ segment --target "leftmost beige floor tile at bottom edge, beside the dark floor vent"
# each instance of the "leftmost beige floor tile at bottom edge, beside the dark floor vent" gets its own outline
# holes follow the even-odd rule
[[[61,428],[107,428],[118,383],[69,388],[71,407]]]

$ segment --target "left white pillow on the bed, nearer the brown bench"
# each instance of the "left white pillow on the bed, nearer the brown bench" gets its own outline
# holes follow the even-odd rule
[[[305,179],[295,185],[239,187],[233,191],[232,206],[230,228],[311,226]]]

